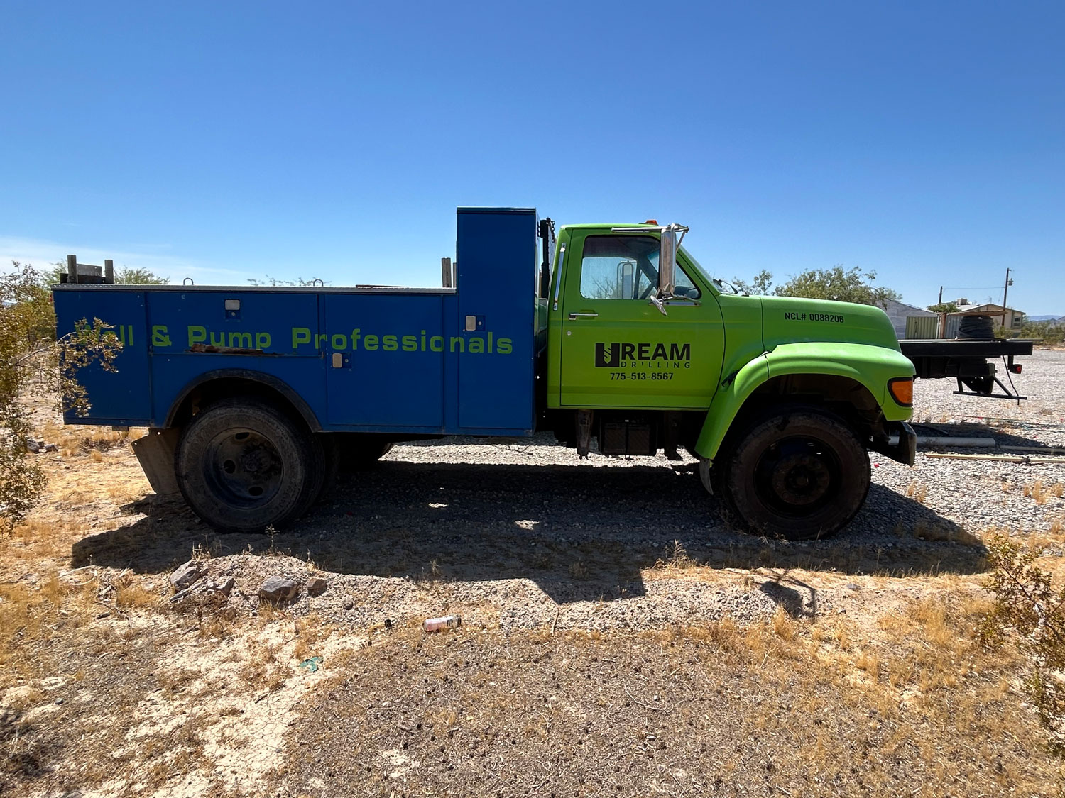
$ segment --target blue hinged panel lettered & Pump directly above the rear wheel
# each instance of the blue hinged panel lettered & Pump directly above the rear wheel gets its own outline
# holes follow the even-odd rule
[[[240,303],[239,316],[227,312],[227,300]],[[321,355],[317,294],[241,288],[149,290],[148,319],[153,354],[189,353],[193,347],[207,346]]]

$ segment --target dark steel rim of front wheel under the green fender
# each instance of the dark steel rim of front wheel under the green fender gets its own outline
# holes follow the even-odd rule
[[[777,440],[761,453],[754,487],[774,512],[805,518],[833,500],[841,478],[842,467],[832,447],[801,435]]]

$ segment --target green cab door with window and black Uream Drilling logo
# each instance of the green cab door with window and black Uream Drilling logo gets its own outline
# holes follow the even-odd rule
[[[655,235],[574,236],[566,275],[560,404],[586,409],[704,410],[721,379],[724,329],[710,287],[677,255],[667,315]]]

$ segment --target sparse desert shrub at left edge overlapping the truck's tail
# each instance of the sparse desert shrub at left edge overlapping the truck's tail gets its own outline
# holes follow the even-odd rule
[[[55,313],[43,277],[29,264],[13,262],[0,276],[0,530],[21,521],[45,487],[40,467],[26,456],[32,432],[21,404],[35,382],[46,383],[76,412],[88,410],[77,381],[80,368],[100,363],[114,370],[121,344],[99,319],[82,320],[55,340]]]

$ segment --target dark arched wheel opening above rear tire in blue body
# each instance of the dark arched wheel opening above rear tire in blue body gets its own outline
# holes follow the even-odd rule
[[[191,380],[170,404],[163,428],[183,427],[200,408],[242,394],[265,399],[302,420],[311,432],[322,432],[314,411],[291,385],[273,375],[246,368],[215,369]]]

